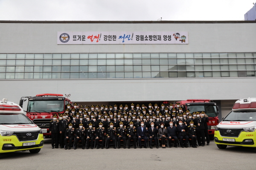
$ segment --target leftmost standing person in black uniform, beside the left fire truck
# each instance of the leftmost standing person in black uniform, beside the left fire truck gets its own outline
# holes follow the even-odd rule
[[[59,134],[59,123],[57,121],[57,115],[53,115],[53,120],[49,124],[49,133],[52,137],[52,149],[58,148],[58,134]]]

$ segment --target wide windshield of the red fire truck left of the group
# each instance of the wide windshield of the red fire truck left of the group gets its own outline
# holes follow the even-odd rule
[[[28,104],[28,112],[60,112],[63,110],[63,100],[30,100]]]

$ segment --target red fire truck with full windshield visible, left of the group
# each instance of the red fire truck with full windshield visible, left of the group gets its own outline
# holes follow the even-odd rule
[[[72,102],[62,94],[37,94],[35,97],[21,97],[20,106],[28,98],[26,116],[43,131],[44,138],[50,138],[49,122],[53,115],[62,114],[67,109],[67,104]]]

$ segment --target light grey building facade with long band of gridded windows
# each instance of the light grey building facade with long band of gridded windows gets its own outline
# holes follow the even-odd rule
[[[256,96],[255,30],[256,21],[0,21],[0,94],[18,102],[69,93],[83,105],[212,99],[223,116],[234,100]],[[57,44],[58,32],[101,31],[187,36],[186,44],[90,44],[87,35],[89,44]]]

